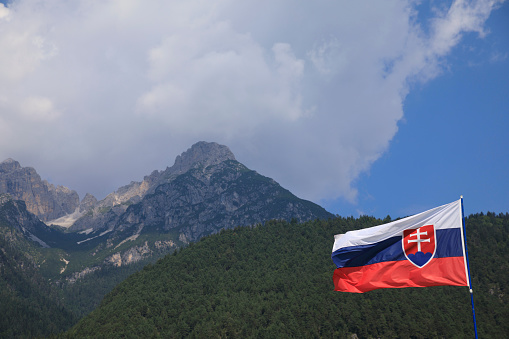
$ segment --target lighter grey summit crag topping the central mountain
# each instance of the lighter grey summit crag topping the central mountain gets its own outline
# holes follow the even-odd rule
[[[172,170],[175,173],[184,173],[191,168],[217,165],[226,160],[235,160],[235,156],[227,146],[215,142],[200,141],[177,156]]]

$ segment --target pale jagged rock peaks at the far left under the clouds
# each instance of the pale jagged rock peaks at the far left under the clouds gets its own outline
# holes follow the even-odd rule
[[[27,210],[43,221],[70,214],[79,206],[78,193],[41,180],[35,169],[10,158],[0,163],[0,193],[23,200]]]

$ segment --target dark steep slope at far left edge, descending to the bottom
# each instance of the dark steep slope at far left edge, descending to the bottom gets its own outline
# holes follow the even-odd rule
[[[28,215],[28,219],[26,218]],[[40,272],[43,254],[34,215],[21,201],[0,196],[0,337],[56,334],[77,319],[60,301],[58,291]],[[47,226],[43,224],[47,229]],[[58,255],[58,254],[57,254]],[[50,265],[51,257],[44,265]]]

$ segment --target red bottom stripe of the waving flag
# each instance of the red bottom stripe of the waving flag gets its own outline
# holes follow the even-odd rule
[[[387,261],[334,271],[334,289],[364,293],[379,288],[468,286],[463,257],[434,258],[422,268],[408,260]]]

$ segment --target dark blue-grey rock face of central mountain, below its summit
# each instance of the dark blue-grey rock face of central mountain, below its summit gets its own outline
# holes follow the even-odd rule
[[[320,206],[297,198],[274,180],[235,160],[194,166],[153,194],[127,208],[112,237],[140,232],[177,231],[187,241],[222,228],[246,226],[270,219],[307,221],[329,218]]]

